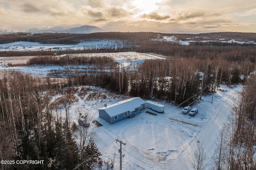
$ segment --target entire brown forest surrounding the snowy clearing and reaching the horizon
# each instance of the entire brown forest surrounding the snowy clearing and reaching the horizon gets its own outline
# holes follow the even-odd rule
[[[104,47],[58,51],[68,53],[106,53],[136,51],[162,55],[165,60],[146,60],[132,69],[121,67],[108,57],[56,57],[54,51],[0,52],[1,57],[34,55],[33,65],[87,66],[87,70],[53,70],[46,78],[34,78],[19,72],[4,72],[0,78],[0,159],[44,160],[43,165],[1,165],[8,169],[91,169],[113,162],[103,162],[94,142],[94,135],[76,126],[68,117],[68,106],[76,100],[80,85],[99,86],[116,94],[140,96],[143,99],[165,100],[176,106],[193,105],[203,95],[214,93],[220,84],[245,84],[238,103],[232,110],[230,124],[220,132],[214,155],[214,169],[255,169],[256,45],[238,43],[196,42],[188,46],[164,41],[151,41],[158,33],[16,33],[1,35],[0,43],[31,41],[72,44],[92,39],[119,39],[132,46]],[[200,37],[216,37],[217,33]],[[170,34],[171,35],[171,34]],[[255,33],[218,33],[221,37],[255,41]],[[199,35],[178,35],[179,39]],[[10,65],[11,66],[11,65]],[[60,83],[58,78],[64,78]],[[64,94],[57,102],[52,96]],[[58,117],[58,108],[66,110],[65,121]],[[54,115],[53,112],[57,114]],[[84,113],[86,114],[86,113]],[[77,143],[74,132],[79,134]],[[231,135],[227,135],[231,134]],[[89,158],[92,161],[88,161]]]

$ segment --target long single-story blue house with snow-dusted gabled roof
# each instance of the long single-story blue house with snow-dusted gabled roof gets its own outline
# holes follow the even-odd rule
[[[146,102],[140,97],[123,100],[116,104],[100,108],[99,117],[112,124],[122,119],[126,119],[130,115],[140,113],[141,109],[145,109],[145,103]]]

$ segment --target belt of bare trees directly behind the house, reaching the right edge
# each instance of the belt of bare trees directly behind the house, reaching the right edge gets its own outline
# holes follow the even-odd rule
[[[74,65],[64,76],[70,85],[100,86],[131,96],[159,98],[174,104],[193,104],[202,95],[214,91],[222,83],[243,83],[254,71],[249,61],[179,58],[146,60],[127,70],[107,57],[35,57],[29,64]],[[85,70],[78,69],[85,66]],[[77,69],[76,69],[77,68]],[[58,70],[51,76],[58,76]],[[62,74],[63,75],[63,74]]]

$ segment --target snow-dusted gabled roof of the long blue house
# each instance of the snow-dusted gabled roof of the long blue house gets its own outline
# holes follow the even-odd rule
[[[116,104],[109,105],[107,107],[102,107],[99,110],[105,110],[110,117],[124,113],[126,111],[134,111],[135,108],[140,107],[140,105],[145,104],[145,101],[140,97],[130,98],[127,100],[122,100]]]

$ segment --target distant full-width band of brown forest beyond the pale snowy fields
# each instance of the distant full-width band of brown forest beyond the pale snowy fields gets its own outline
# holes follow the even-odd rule
[[[100,48],[84,48],[76,51],[67,49],[65,51],[4,51],[0,52],[0,57],[8,56],[24,56],[24,55],[63,55],[71,53],[110,53],[110,52],[128,52],[136,51],[140,53],[155,53],[164,55],[168,58],[196,58],[206,60],[210,58],[223,59],[227,61],[250,61],[256,62],[256,45],[254,44],[237,44],[228,43],[231,45],[219,45],[218,43],[194,43],[184,46],[176,43],[163,41],[144,41],[139,42],[136,46],[120,47],[100,47]]]

